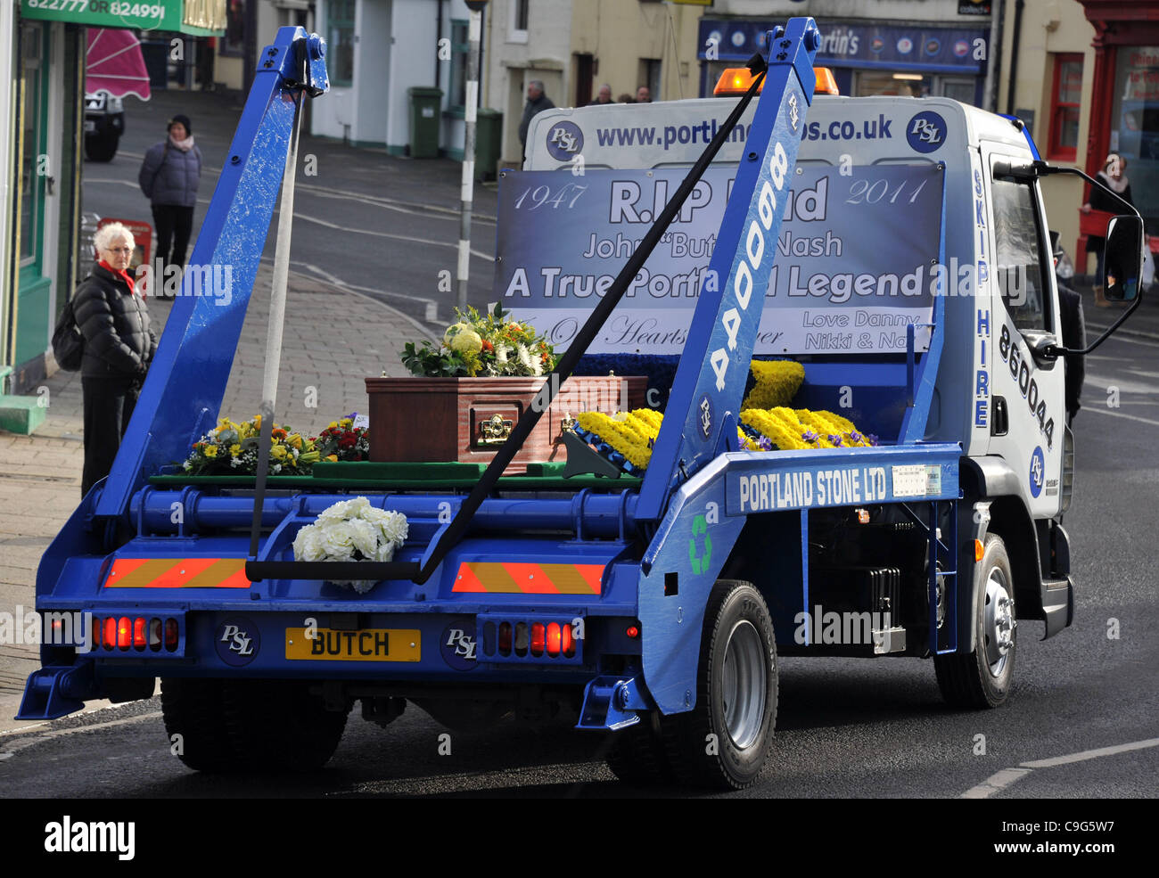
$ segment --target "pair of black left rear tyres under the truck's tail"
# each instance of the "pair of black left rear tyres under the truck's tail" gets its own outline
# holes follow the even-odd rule
[[[327,710],[296,681],[166,679],[161,710],[170,744],[190,768],[267,771],[321,768],[350,709]]]

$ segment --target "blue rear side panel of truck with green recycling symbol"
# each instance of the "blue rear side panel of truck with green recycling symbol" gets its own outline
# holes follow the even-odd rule
[[[705,607],[744,527],[724,511],[724,467],[720,456],[680,486],[640,565],[644,681],[663,714],[697,703]]]

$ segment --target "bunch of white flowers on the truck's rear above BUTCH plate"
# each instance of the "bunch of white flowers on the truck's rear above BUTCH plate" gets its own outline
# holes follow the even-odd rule
[[[328,506],[293,541],[294,561],[391,561],[407,540],[407,517],[371,506],[365,497]],[[331,579],[365,594],[376,580]]]

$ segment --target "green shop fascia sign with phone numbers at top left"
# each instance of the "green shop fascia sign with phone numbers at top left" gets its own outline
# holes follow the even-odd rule
[[[93,28],[167,30],[194,36],[225,31],[225,0],[20,0],[23,19]]]

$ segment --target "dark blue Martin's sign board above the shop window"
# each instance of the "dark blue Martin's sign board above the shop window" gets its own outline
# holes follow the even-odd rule
[[[700,20],[701,60],[746,61],[764,51],[772,21]],[[989,38],[983,28],[940,28],[933,24],[887,27],[863,22],[817,22],[821,50],[818,67],[861,67],[923,73],[977,75],[985,69],[978,50]],[[715,58],[709,52],[715,49]]]

